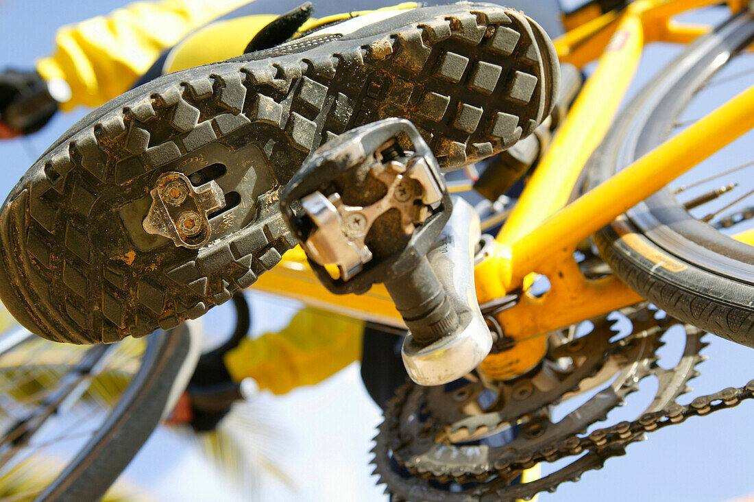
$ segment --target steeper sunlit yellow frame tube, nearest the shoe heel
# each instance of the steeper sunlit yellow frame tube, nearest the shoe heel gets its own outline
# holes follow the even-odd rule
[[[541,160],[498,235],[510,245],[569,201],[591,153],[608,131],[642,53],[642,20],[627,10],[596,71]]]

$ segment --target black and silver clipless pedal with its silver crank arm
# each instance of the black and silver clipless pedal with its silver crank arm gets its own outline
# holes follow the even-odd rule
[[[443,233],[453,204],[411,122],[386,119],[329,141],[290,181],[280,207],[329,291],[385,283],[409,328],[402,355],[415,382],[455,380],[489,353],[474,295],[478,218],[475,226],[464,207]]]

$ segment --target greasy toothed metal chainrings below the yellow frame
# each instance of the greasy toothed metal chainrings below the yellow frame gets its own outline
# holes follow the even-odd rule
[[[626,445],[657,427],[647,417],[662,420],[668,410],[680,406],[676,399],[688,392],[688,380],[698,375],[695,366],[704,359],[699,352],[706,343],[701,341],[703,333],[685,326],[681,360],[674,368],[661,368],[661,337],[679,323],[656,319],[656,311],[645,303],[621,313],[630,324],[622,330],[625,336],[617,330],[621,323],[607,316],[593,319],[592,330],[579,337],[569,336],[574,327],[555,332],[544,361],[526,375],[489,381],[482,374],[470,374],[446,386],[400,387],[372,450],[379,482],[387,485],[393,500],[529,499],[624,454]],[[586,435],[590,425],[606,420],[608,412],[651,375],[657,378],[657,393],[638,420]],[[550,421],[552,405],[610,379],[562,420]],[[539,462],[575,455],[580,456],[548,476],[512,484]]]

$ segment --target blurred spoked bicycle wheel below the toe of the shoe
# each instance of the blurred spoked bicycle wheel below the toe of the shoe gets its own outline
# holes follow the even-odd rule
[[[185,387],[195,331],[97,346],[0,337],[0,500],[100,500]]]

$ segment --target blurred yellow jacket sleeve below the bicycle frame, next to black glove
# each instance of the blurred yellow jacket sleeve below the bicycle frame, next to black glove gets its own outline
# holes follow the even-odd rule
[[[363,329],[359,319],[306,308],[282,331],[242,340],[225,365],[234,381],[251,377],[260,389],[285,394],[359,361]]]

